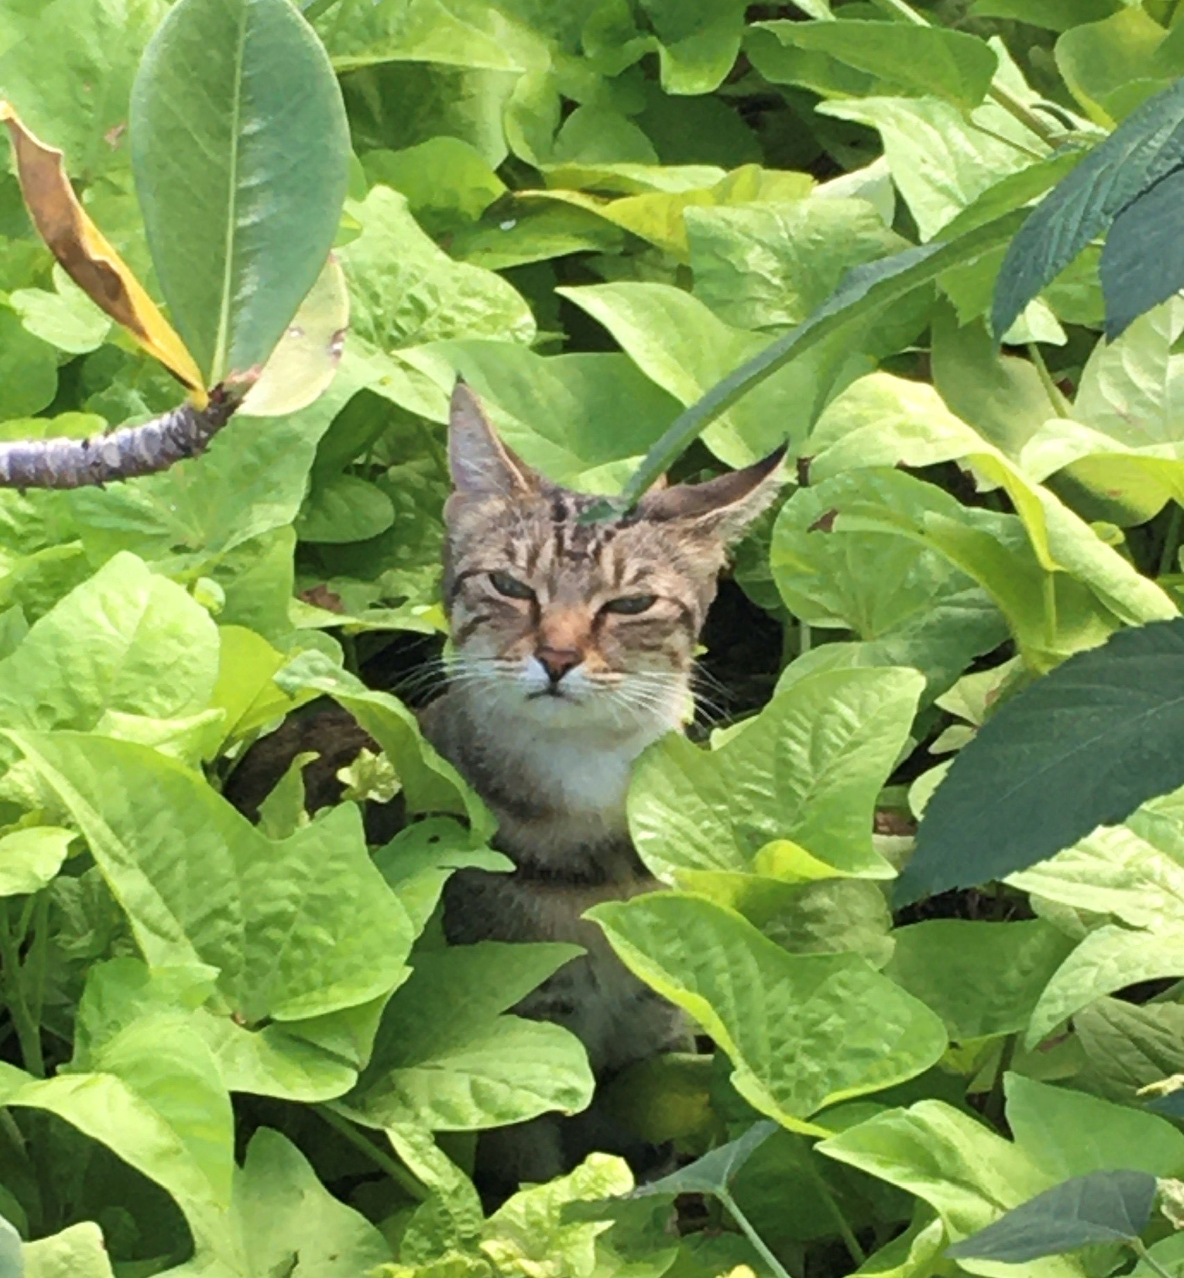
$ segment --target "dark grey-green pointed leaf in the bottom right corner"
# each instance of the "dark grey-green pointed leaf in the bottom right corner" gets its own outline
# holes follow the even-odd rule
[[[954,1260],[1019,1264],[1098,1242],[1137,1238],[1151,1219],[1156,1178],[1091,1172],[1056,1185],[946,1250]]]

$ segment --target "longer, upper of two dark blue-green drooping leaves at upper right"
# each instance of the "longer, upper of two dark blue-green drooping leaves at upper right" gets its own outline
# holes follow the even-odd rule
[[[1008,247],[991,326],[1021,311],[1138,196],[1184,162],[1184,81],[1157,93],[1052,189]]]

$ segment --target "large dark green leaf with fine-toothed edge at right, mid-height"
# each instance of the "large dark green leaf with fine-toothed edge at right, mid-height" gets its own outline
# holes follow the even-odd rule
[[[1123,630],[1001,705],[930,800],[900,898],[1026,869],[1184,785],[1180,621]]]

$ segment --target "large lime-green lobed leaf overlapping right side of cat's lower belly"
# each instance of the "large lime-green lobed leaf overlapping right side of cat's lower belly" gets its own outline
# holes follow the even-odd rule
[[[937,1017],[854,955],[787,953],[731,910],[676,892],[589,918],[727,1052],[740,1094],[791,1130],[825,1131],[819,1109],[915,1077],[945,1051]]]

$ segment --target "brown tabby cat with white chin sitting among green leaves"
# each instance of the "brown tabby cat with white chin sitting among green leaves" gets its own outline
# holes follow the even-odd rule
[[[690,1042],[681,1015],[581,915],[659,887],[630,842],[630,773],[648,745],[683,727],[727,548],[775,498],[783,455],[581,523],[596,498],[526,465],[464,382],[452,395],[443,596],[453,652],[448,690],[421,723],[497,817],[496,846],[516,869],[453,875],[444,930],[461,944],[582,946],[586,956],[516,1011],[576,1034],[598,1080]],[[590,1148],[637,1153],[594,1104],[575,1120],[487,1134],[479,1167],[512,1191]]]

